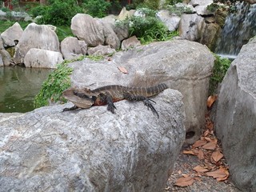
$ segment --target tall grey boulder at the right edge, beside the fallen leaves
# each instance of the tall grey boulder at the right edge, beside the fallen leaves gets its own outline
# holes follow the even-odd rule
[[[234,184],[256,191],[256,38],[231,63],[218,95],[215,127]]]

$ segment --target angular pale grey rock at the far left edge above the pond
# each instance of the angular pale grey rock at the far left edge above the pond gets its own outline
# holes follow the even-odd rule
[[[22,27],[15,22],[13,26],[10,26],[7,30],[2,32],[1,38],[5,46],[15,46],[14,40],[18,40],[22,37]]]

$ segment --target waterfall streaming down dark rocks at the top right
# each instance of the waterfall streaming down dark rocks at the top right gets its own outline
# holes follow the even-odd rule
[[[236,5],[236,13],[226,17],[221,36],[218,39],[216,54],[234,58],[242,46],[256,35],[256,4],[247,2]]]

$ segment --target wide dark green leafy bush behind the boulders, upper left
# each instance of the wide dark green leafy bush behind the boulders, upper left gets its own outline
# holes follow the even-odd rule
[[[30,14],[34,17],[42,15],[42,18],[38,19],[38,24],[70,26],[71,18],[83,12],[82,7],[78,6],[74,0],[55,0],[49,3],[46,6],[31,8]]]

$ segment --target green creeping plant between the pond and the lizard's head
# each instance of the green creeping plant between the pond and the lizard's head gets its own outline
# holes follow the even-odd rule
[[[51,102],[66,102],[62,98],[62,92],[70,87],[70,77],[73,69],[68,67],[71,61],[64,61],[58,64],[57,69],[49,74],[48,78],[42,84],[42,88],[34,98],[34,107],[47,106]]]

